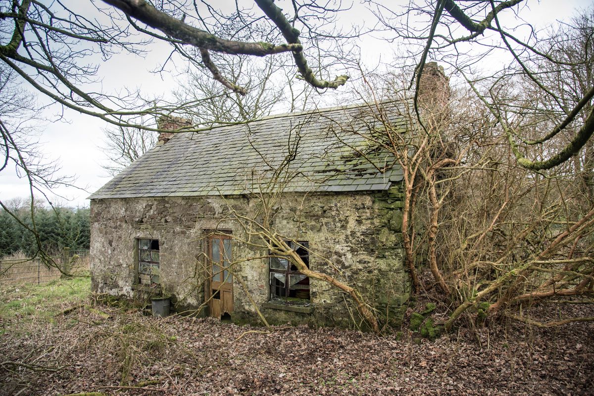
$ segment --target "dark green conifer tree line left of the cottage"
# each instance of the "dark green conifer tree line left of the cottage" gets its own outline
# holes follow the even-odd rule
[[[30,202],[13,200],[12,204],[10,211],[16,219],[0,208],[0,258],[19,251],[27,257],[37,253],[35,235],[27,229],[33,228],[33,223],[42,247],[50,254],[58,253],[64,247],[72,250],[89,249],[89,207],[33,205],[31,217]]]

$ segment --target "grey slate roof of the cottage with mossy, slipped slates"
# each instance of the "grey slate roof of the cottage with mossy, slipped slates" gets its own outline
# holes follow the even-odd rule
[[[176,133],[89,198],[386,190],[402,170],[365,136],[383,129],[380,115],[405,132],[406,106],[358,104]]]

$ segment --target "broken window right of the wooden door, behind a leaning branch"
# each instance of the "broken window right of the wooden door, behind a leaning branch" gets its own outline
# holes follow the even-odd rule
[[[309,243],[306,241],[286,242],[309,268]],[[270,299],[286,304],[309,302],[309,278],[284,257],[270,254]]]

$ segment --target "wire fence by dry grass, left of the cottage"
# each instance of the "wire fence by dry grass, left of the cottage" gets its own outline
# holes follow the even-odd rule
[[[74,275],[89,274],[88,250],[66,248],[62,251],[61,256],[50,258],[51,260],[47,260],[45,263],[40,258],[0,260],[0,285],[21,285],[23,283],[43,285],[59,279],[63,274],[62,271]]]

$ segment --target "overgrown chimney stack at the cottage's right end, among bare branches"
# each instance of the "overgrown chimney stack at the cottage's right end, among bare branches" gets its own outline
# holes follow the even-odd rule
[[[434,116],[443,114],[450,95],[450,78],[445,76],[443,66],[438,66],[437,62],[425,63],[419,84],[419,107]]]

